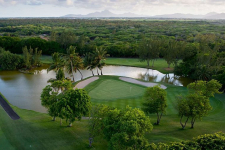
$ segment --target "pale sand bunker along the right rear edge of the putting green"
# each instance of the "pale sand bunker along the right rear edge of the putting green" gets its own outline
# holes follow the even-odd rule
[[[143,85],[143,86],[146,86],[146,87],[153,87],[155,85],[159,85],[157,83],[151,83],[151,82],[142,82],[142,81],[138,81],[136,79],[132,79],[132,78],[126,78],[126,77],[120,77],[119,78],[120,80],[123,80],[123,81],[126,81],[126,82],[130,82],[130,83],[134,83],[134,84],[139,84],[139,85]],[[164,85],[160,85],[160,87],[162,89],[166,89],[167,87],[164,86]]]

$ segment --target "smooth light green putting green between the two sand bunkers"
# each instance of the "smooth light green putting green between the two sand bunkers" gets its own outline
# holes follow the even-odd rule
[[[114,79],[105,79],[100,81],[99,84],[89,92],[89,95],[92,99],[116,100],[140,97],[143,95],[144,91],[145,87],[139,85]]]

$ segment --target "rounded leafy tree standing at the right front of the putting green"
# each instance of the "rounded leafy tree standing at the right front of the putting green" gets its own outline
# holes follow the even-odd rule
[[[144,93],[143,99],[143,111],[147,114],[156,113],[157,121],[155,124],[159,125],[162,115],[166,113],[166,91],[160,88],[159,85],[148,87]]]

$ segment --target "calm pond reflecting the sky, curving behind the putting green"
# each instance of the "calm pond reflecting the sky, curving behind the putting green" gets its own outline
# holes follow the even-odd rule
[[[8,99],[8,101],[19,108],[34,110],[37,112],[46,112],[41,106],[40,95],[42,89],[48,84],[50,78],[55,78],[55,72],[47,73],[48,65],[37,70],[34,74],[24,74],[18,71],[0,71],[0,92]],[[81,71],[84,78],[92,76],[91,71]],[[94,70],[96,75],[96,70]],[[104,75],[125,76],[145,81],[164,82],[177,86],[186,86],[192,80],[183,77],[174,76],[174,74],[162,74],[157,70],[126,67],[126,66],[106,66],[103,68]],[[75,80],[80,80],[81,75],[75,73]],[[70,75],[66,74],[66,77]]]

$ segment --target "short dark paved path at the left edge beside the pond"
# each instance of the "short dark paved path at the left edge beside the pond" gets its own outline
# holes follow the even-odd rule
[[[12,107],[6,102],[6,100],[0,95],[0,104],[5,112],[11,117],[13,120],[18,120],[20,117],[17,113],[12,109]]]

